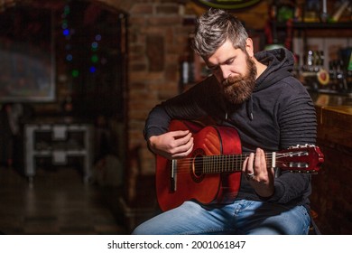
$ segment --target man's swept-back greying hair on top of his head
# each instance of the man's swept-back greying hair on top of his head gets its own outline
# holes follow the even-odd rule
[[[209,9],[197,20],[193,49],[207,58],[228,39],[236,49],[245,51],[247,38],[245,27],[233,14],[221,9]]]

